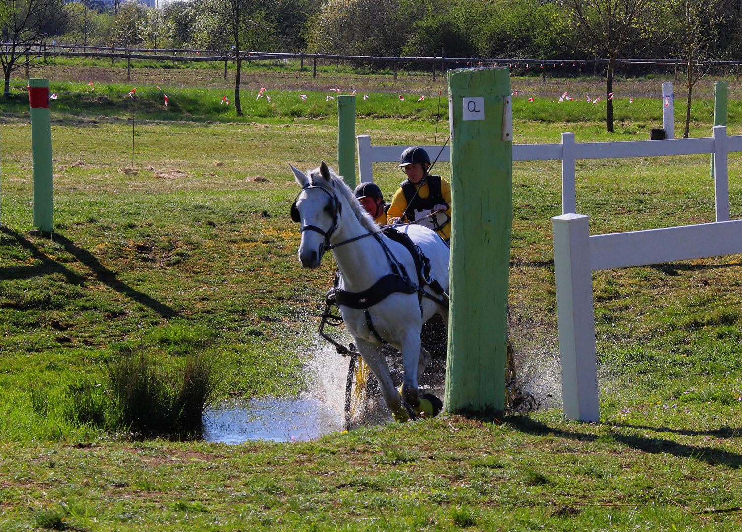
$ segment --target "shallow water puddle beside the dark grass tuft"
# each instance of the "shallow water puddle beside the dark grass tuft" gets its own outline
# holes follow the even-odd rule
[[[312,398],[219,404],[203,417],[204,440],[234,445],[251,440],[308,441],[339,430],[341,414]]]

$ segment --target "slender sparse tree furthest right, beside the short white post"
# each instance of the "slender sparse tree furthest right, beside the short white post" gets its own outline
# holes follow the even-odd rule
[[[710,59],[713,59],[719,44],[719,27],[724,16],[719,13],[718,0],[669,0],[666,5],[672,21],[669,30],[676,36],[678,55],[683,60],[684,72],[678,76],[678,81],[688,89],[686,129],[683,132],[683,139],[687,139],[691,128],[693,88],[711,68]],[[704,62],[704,59],[709,61]]]

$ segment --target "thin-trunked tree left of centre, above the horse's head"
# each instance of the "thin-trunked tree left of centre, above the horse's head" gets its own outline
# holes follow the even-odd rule
[[[229,54],[237,64],[234,76],[234,108],[242,116],[240,76],[243,52],[269,51],[275,37],[275,24],[260,0],[201,0],[194,4],[197,22],[194,40],[209,50]]]

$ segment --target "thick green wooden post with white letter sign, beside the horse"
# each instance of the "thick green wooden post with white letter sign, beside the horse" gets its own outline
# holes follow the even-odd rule
[[[512,125],[507,68],[450,70],[450,311],[444,410],[505,407]]]

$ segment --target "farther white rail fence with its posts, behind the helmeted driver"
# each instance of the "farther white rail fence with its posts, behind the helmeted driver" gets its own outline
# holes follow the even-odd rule
[[[369,135],[358,138],[358,174],[361,182],[373,181],[373,162],[395,162],[409,146],[372,146]],[[449,146],[423,146],[430,158],[450,160]],[[714,154],[716,221],[729,220],[729,185],[726,154],[742,151],[742,137],[726,137],[726,126],[717,125],[714,136],[702,139],[631,140],[623,142],[574,142],[574,133],[562,133],[561,144],[513,144],[513,161],[562,161],[562,214],[574,212],[574,161],[625,157]]]

